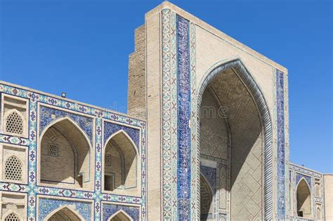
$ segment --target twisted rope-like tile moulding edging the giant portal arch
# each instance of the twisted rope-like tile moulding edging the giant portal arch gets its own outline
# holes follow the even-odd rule
[[[240,59],[218,62],[211,67],[208,72],[202,78],[197,93],[197,116],[200,114],[200,106],[202,102],[202,94],[204,89],[208,86],[215,76],[227,69],[234,69],[237,76],[240,78],[244,86],[247,87],[249,93],[252,95],[256,106],[258,108],[261,123],[263,126],[264,136],[264,149],[263,149],[263,215],[265,220],[273,219],[273,128],[272,120],[270,119],[270,113],[268,105],[263,93],[261,92],[258,84],[254,81],[252,75],[247,68],[243,65]],[[200,135],[200,125],[197,123],[197,135]],[[200,153],[200,140],[197,139],[197,153]],[[197,165],[200,162],[200,154],[192,156],[197,158]],[[196,168],[199,171],[199,168]],[[199,172],[197,172],[199,173]],[[197,180],[197,183],[200,180]],[[200,185],[197,186],[197,196],[200,196]],[[198,200],[197,205],[200,205]],[[200,215],[200,207],[197,208],[197,213]]]

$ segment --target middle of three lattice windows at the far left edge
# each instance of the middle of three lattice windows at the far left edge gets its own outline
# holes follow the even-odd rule
[[[6,160],[5,179],[22,181],[22,163],[16,156]]]

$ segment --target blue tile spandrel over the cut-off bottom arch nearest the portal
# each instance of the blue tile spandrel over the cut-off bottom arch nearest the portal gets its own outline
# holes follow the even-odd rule
[[[103,221],[107,221],[119,210],[123,210],[134,221],[140,220],[140,210],[138,207],[103,203]]]

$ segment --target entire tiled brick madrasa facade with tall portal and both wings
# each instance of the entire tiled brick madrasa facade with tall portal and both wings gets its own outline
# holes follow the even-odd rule
[[[129,56],[128,114],[0,82],[0,219],[333,220],[289,163],[288,73],[169,2]]]

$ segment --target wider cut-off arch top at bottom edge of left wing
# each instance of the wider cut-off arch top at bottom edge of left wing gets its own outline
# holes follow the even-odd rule
[[[44,221],[84,221],[84,218],[75,210],[67,206],[62,206],[50,213]]]

